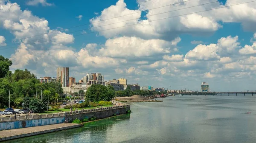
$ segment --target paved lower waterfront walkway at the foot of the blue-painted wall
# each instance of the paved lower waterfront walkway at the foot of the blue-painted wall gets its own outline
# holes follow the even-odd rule
[[[52,124],[46,126],[34,126],[28,128],[20,128],[20,129],[10,129],[10,130],[3,130],[0,131],[0,141],[4,140],[12,140],[20,137],[29,137],[33,135],[40,135],[49,132],[56,132],[65,129],[72,129],[81,127],[82,124],[76,123],[59,123],[59,124]]]

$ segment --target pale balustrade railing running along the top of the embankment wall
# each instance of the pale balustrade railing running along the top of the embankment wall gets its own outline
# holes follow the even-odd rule
[[[120,105],[120,106],[102,107],[102,108],[100,107],[100,108],[94,108],[94,109],[83,109],[83,110],[78,110],[78,111],[60,112],[60,113],[55,113],[55,114],[17,116],[16,119],[15,119],[15,117],[3,117],[3,118],[0,118],[0,122],[3,122],[3,121],[21,121],[21,120],[26,120],[26,119],[65,117],[66,115],[75,115],[75,114],[82,114],[82,113],[87,113],[87,112],[99,112],[99,111],[104,111],[104,110],[130,107],[129,104],[125,104],[125,105],[124,105],[124,103],[122,103],[122,104],[123,105]]]

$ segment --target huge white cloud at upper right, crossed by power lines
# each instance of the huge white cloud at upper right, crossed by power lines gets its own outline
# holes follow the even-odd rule
[[[256,17],[255,3],[247,3],[233,7],[225,7],[217,10],[206,11],[204,13],[195,12],[204,11],[211,8],[219,8],[223,7],[223,5],[221,5],[221,3],[218,2],[212,3],[212,0],[195,0],[179,3],[176,5],[170,4],[177,3],[177,0],[137,0],[137,3],[139,4],[138,10],[128,9],[126,7],[126,3],[124,2],[124,0],[119,0],[116,3],[116,5],[105,8],[99,16],[90,20],[93,27],[92,30],[100,31],[99,33],[107,38],[111,38],[118,35],[136,35],[144,39],[174,39],[178,34],[184,32],[195,35],[201,35],[217,31],[219,28],[222,27],[217,21],[241,22],[241,24],[246,29],[253,29],[254,26],[252,25],[256,22],[255,18],[253,18]],[[227,0],[225,6],[230,6],[238,3],[244,3],[244,1]],[[172,10],[172,12],[167,12],[170,10]],[[144,18],[140,15],[141,11],[147,11],[145,20],[143,20]],[[183,16],[175,17],[179,15]],[[99,22],[99,20],[103,21]]]

